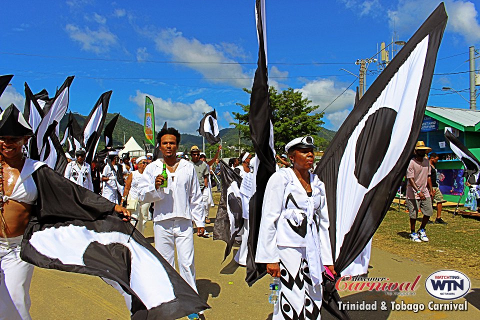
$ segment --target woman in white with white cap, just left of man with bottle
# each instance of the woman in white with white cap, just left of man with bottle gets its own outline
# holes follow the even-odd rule
[[[121,197],[121,201],[123,202],[125,199],[127,203],[133,204],[137,202],[136,209],[130,210],[131,216],[138,219],[137,229],[138,231],[143,233],[143,228],[145,227],[145,223],[148,220],[148,208],[150,207],[150,202],[141,203],[139,196],[138,196],[138,183],[141,180],[143,170],[146,167],[146,156],[140,156],[136,159],[136,164],[138,165],[138,170],[131,171],[125,181],[125,188],[123,190],[123,196]],[[132,224],[135,224],[132,221]]]

